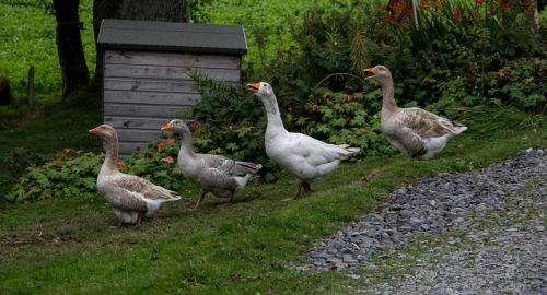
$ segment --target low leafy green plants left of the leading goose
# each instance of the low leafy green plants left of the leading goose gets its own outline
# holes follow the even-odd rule
[[[50,162],[28,167],[5,198],[15,202],[92,192],[102,162],[93,153],[65,150]]]

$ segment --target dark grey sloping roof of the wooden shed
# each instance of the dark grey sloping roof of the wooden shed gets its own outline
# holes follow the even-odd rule
[[[98,44],[105,49],[245,54],[241,25],[103,20]]]

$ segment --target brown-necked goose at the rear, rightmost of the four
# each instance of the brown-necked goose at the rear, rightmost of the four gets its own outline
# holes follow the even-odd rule
[[[382,86],[381,128],[387,141],[410,157],[427,160],[441,152],[449,139],[467,127],[451,122],[421,108],[398,108],[395,104],[393,79],[384,66],[365,70]]]

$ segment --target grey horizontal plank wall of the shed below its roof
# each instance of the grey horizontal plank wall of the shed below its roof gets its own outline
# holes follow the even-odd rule
[[[104,58],[103,121],[118,131],[121,157],[155,140],[163,125],[199,99],[187,66],[241,82],[240,56],[107,50]]]

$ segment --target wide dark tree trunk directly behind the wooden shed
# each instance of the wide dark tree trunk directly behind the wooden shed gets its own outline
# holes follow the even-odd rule
[[[103,82],[103,51],[96,44],[103,19],[181,22],[187,20],[188,0],[94,0],[93,32],[95,35],[96,63],[94,84]]]

